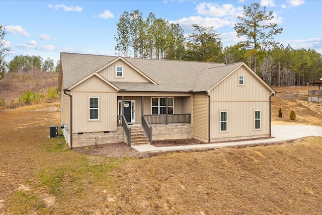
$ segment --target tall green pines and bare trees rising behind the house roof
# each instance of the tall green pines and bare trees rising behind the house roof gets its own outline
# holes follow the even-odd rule
[[[237,37],[246,39],[223,47],[215,26],[193,24],[193,33],[185,37],[179,24],[155,18],[153,13],[144,20],[138,10],[124,12],[117,23],[115,50],[124,57],[245,62],[269,85],[305,85],[322,78],[321,54],[275,42],[274,35],[283,29],[271,22],[273,18],[273,12],[258,3],[244,6],[234,30]]]

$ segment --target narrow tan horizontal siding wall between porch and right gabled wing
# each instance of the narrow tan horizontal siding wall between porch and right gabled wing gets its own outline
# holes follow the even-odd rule
[[[204,94],[194,95],[193,135],[208,139],[208,97]]]

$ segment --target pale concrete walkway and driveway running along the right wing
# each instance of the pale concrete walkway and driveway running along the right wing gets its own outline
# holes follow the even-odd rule
[[[268,142],[281,142],[291,139],[298,139],[306,136],[322,136],[322,127],[311,125],[272,125],[272,137],[269,139],[235,141],[235,142],[220,142],[214,144],[200,144],[189,146],[175,146],[175,147],[154,147],[152,145],[133,146],[132,148],[138,152],[167,152],[180,150],[194,150],[194,149],[209,149],[231,146],[243,146],[251,144],[262,144]]]

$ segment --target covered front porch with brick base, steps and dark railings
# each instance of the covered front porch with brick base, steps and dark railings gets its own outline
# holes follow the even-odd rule
[[[191,106],[190,96],[121,96],[118,97],[117,125],[123,127],[129,147],[132,144],[149,143],[151,145],[152,139],[192,138]],[[141,128],[148,141],[136,141],[138,138],[137,130]],[[135,132],[133,133],[134,129]],[[143,140],[145,137],[140,132],[139,138]]]

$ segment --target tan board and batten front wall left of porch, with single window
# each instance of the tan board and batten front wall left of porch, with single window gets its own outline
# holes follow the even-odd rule
[[[113,87],[93,76],[69,93],[73,100],[73,133],[117,130],[117,91]],[[98,120],[89,119],[90,97],[99,98]]]

